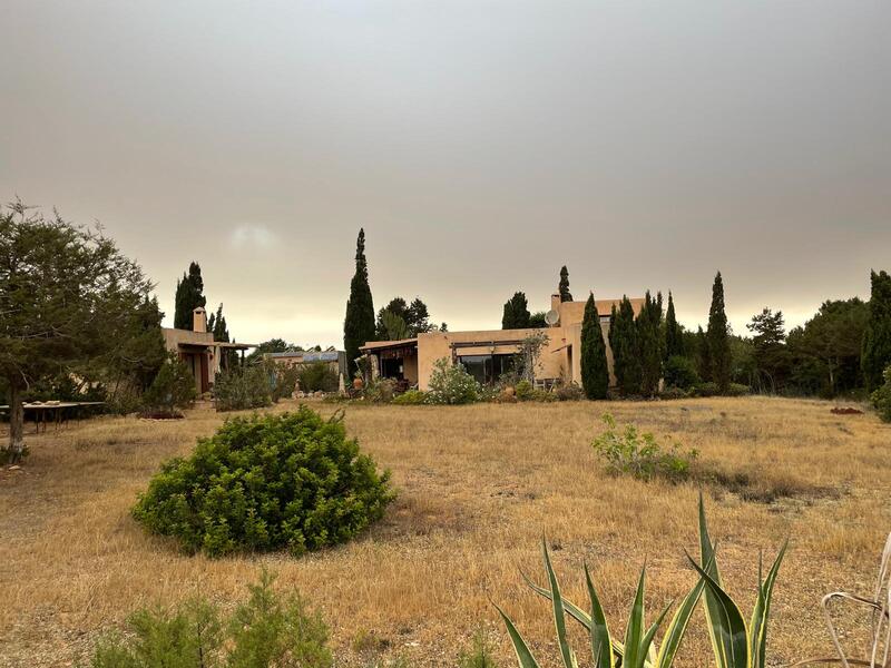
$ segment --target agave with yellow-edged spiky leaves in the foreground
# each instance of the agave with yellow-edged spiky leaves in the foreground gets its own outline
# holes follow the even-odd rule
[[[539,587],[526,576],[523,576],[523,579],[536,593],[551,601],[557,641],[565,668],[578,667],[575,652],[566,637],[567,615],[587,629],[590,636],[591,665],[594,668],[614,668],[619,665],[619,660],[623,668],[669,668],[686,633],[691,615],[693,615],[703,592],[705,592],[706,619],[717,668],[764,668],[771,597],[786,547],[783,546],[780,550],[773,567],[767,573],[767,578],[763,581],[761,567],[758,567],[758,597],[751,622],[746,625],[740,612],[740,607],[724,591],[721,584],[721,574],[715,558],[716,546],[708,536],[702,494],[699,495],[699,543],[704,567],[691,559],[693,567],[699,573],[699,580],[675,610],[663,636],[662,645],[657,648],[655,644],[656,632],[667,617],[673,603],[669,603],[662,611],[655,622],[649,627],[646,626],[644,616],[646,567],[640,571],[637,591],[631,603],[631,612],[625,629],[624,642],[620,642],[613,638],[609,632],[609,626],[591,581],[588,566],[585,564],[585,581],[588,589],[590,612],[586,612],[571,601],[564,599],[550,562],[547,541],[542,540],[541,553],[548,576],[548,587]],[[520,668],[538,668],[538,661],[526,640],[517,630],[513,621],[501,608],[498,606],[496,608],[505,621]]]

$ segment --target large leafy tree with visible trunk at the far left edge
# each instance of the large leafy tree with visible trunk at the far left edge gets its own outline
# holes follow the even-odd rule
[[[0,208],[0,376],[10,394],[7,458],[25,451],[23,392],[58,375],[115,361],[146,371],[157,346],[153,285],[99,230],[47,219],[16,202]],[[146,306],[148,304],[148,306]],[[125,351],[137,355],[123,360]],[[145,356],[145,357],[144,357]]]

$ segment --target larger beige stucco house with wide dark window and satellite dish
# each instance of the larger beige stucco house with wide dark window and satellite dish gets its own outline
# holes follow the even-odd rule
[[[600,327],[607,346],[610,382],[613,353],[609,350],[609,313],[620,299],[597,299]],[[644,305],[643,298],[630,299],[635,316]],[[560,302],[560,295],[551,295],[552,324],[530,330],[484,330],[474,332],[430,332],[417,338],[402,341],[375,341],[362,346],[362,352],[372,358],[372,369],[382,377],[408,381],[420,390],[428,390],[430,374],[437,360],[446,357],[460,362],[481,383],[493,383],[508,371],[520,343],[527,336],[544,332],[548,342],[539,357],[536,379],[581,385],[581,321],[585,302]]]

